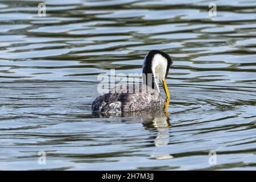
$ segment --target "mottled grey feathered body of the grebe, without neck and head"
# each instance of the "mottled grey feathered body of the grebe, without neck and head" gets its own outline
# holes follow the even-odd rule
[[[132,93],[129,89],[133,89]],[[134,92],[139,90],[139,92]],[[164,98],[155,89],[144,84],[129,84],[125,88],[114,88],[97,97],[92,104],[93,111],[118,113],[143,110],[163,105]]]

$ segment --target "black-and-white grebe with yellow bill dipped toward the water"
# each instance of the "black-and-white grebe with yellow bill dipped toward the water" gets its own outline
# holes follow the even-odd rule
[[[97,113],[130,113],[169,104],[170,93],[166,78],[172,59],[168,53],[152,50],[143,60],[142,82],[117,86],[109,93],[98,96],[92,103],[92,111]],[[166,102],[160,94],[158,81],[166,93]],[[137,91],[135,91],[137,90]]]

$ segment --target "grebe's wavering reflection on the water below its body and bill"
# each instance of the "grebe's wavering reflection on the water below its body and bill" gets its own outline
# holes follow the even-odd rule
[[[151,155],[153,159],[172,159],[173,156],[165,154],[161,150],[161,146],[167,146],[170,140],[169,128],[170,114],[167,111],[169,101],[165,102],[163,107],[150,108],[132,113],[115,113],[115,114],[98,114],[93,113],[94,117],[114,117],[121,119],[121,122],[138,123],[141,122],[144,129],[150,131],[154,136],[154,152]],[[133,118],[132,120],[130,118]],[[152,136],[151,135],[151,136]]]

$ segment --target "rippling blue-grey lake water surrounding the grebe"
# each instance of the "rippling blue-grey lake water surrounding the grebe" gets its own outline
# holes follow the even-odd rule
[[[0,1],[0,169],[255,170],[256,1],[210,2]],[[174,61],[170,115],[92,115],[97,75],[151,49]]]

